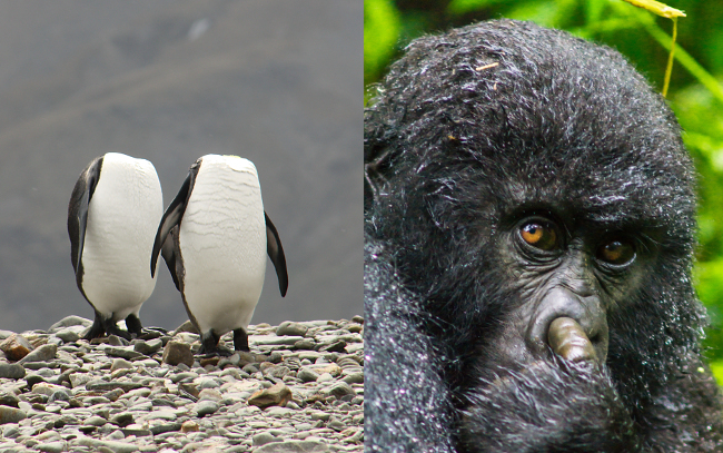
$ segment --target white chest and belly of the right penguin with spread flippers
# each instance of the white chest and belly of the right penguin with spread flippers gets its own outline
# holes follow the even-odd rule
[[[266,272],[266,221],[255,169],[204,158],[179,232],[184,296],[201,331],[246,327]]]

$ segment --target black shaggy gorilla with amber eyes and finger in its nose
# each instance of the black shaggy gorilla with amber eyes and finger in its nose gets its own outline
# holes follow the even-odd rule
[[[723,451],[694,170],[621,55],[511,20],[420,38],[365,170],[370,451]]]

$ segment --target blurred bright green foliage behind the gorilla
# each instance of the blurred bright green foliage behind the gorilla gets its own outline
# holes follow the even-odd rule
[[[667,98],[685,130],[699,180],[695,284],[709,309],[705,355],[723,384],[723,1],[671,0],[679,19]],[[673,22],[622,0],[365,0],[365,100],[415,37],[497,18],[532,20],[616,48],[658,90]]]

